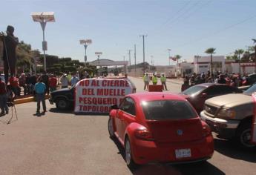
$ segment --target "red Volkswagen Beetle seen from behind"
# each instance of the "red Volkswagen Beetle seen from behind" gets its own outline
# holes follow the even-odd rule
[[[128,167],[203,161],[214,152],[209,126],[186,99],[170,93],[125,96],[110,112],[108,131],[124,146]]]

